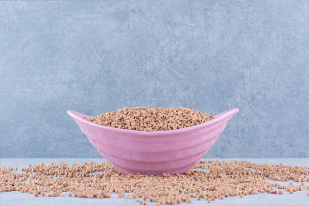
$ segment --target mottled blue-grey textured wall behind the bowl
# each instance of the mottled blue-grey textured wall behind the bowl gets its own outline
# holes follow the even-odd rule
[[[308,0],[0,1],[0,156],[100,157],[75,110],[239,108],[205,157],[309,157]]]

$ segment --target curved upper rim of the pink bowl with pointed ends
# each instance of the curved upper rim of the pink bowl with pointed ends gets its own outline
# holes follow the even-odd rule
[[[193,126],[188,126],[188,127],[185,127],[185,128],[178,128],[178,129],[172,129],[172,130],[158,130],[158,131],[140,131],[140,130],[135,130],[135,129],[124,129],[124,128],[117,128],[117,127],[112,127],[112,126],[105,126],[105,125],[102,125],[102,124],[96,124],[96,123],[92,123],[92,122],[89,122],[85,119],[83,119],[82,117],[85,116],[87,118],[91,118],[91,116],[88,116],[88,115],[84,115],[82,113],[79,113],[79,112],[76,112],[76,111],[73,111],[73,110],[68,110],[67,111],[67,114],[69,116],[71,116],[75,122],[82,122],[84,124],[88,124],[90,126],[95,126],[95,127],[98,127],[98,128],[102,128],[102,129],[106,129],[106,130],[110,130],[110,131],[114,131],[114,132],[124,132],[124,133],[131,133],[131,134],[147,134],[148,136],[149,135],[157,135],[158,132],[160,132],[161,135],[164,135],[166,133],[166,135],[170,135],[172,133],[182,133],[182,132],[186,132],[186,131],[191,131],[193,129],[198,129],[200,127],[205,127],[207,125],[212,125],[212,124],[215,124],[215,123],[218,123],[218,122],[221,122],[223,121],[224,119],[231,119],[232,116],[236,113],[239,112],[239,109],[237,108],[233,108],[233,109],[230,109],[228,111],[225,111],[225,112],[222,112],[220,114],[217,114],[217,115],[214,115],[213,119],[207,121],[207,122],[204,122],[204,123],[201,123],[201,124],[195,124]],[[227,121],[228,121],[227,120]]]

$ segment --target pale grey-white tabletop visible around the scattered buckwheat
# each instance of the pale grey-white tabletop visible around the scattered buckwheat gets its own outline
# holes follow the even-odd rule
[[[231,160],[244,160],[250,161],[251,163],[261,164],[261,163],[270,163],[270,164],[279,164],[282,165],[294,165],[294,166],[309,166],[309,158],[205,158],[202,160],[214,160],[220,161],[223,160],[230,162]],[[40,162],[45,165],[53,162],[54,164],[59,164],[60,162],[65,162],[68,166],[71,166],[73,163],[83,164],[85,162],[96,162],[102,163],[106,159],[68,159],[68,158],[1,158],[0,166],[8,167],[12,166],[18,167],[17,172],[22,172],[22,167],[28,167],[29,164],[35,165]],[[275,183],[277,181],[270,182]],[[293,180],[289,180],[293,181]],[[289,182],[281,182],[280,184],[288,184]],[[299,186],[299,182],[294,182],[294,185]],[[309,182],[305,182],[306,186],[309,186]],[[223,200],[215,200],[211,203],[207,203],[204,200],[196,201],[192,198],[192,203],[182,203],[178,204],[179,206],[188,205],[188,206],[309,206],[309,196],[307,193],[309,190],[305,189],[304,191],[294,192],[290,194],[282,189],[282,195],[269,194],[269,193],[259,193],[256,195],[246,195],[242,198],[237,197],[228,197]],[[155,206],[155,203],[146,201],[147,205]],[[141,206],[139,202],[136,202],[135,199],[128,200],[126,195],[124,198],[117,198],[117,194],[112,194],[111,198],[103,199],[88,199],[88,198],[73,198],[67,197],[35,197],[34,195],[28,193],[21,193],[18,191],[13,192],[2,192],[0,193],[0,206]]]

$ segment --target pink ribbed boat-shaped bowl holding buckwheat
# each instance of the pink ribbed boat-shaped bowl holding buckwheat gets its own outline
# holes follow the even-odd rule
[[[84,120],[87,115],[67,113],[90,143],[123,174],[182,174],[217,141],[237,108],[215,115],[202,124],[163,131],[138,131],[104,126]]]

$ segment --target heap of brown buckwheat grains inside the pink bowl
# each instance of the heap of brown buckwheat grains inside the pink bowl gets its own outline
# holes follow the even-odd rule
[[[83,119],[105,126],[140,131],[171,130],[207,122],[213,117],[197,110],[183,107],[124,107],[96,117]]]

